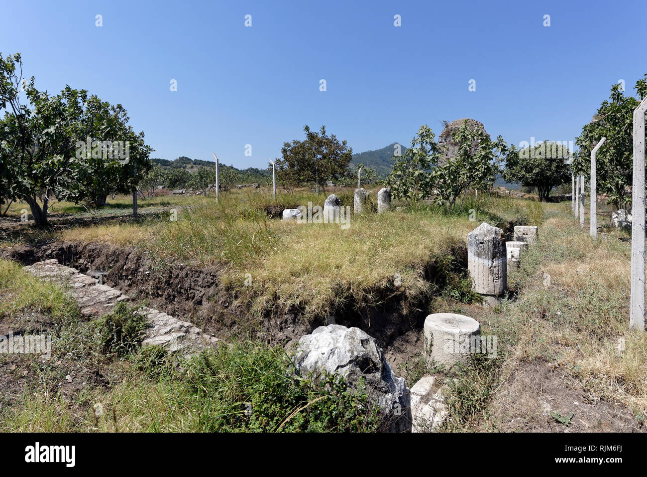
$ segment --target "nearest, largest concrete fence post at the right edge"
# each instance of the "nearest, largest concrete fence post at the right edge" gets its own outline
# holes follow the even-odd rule
[[[631,187],[631,310],[629,327],[645,329],[645,111],[647,98],[633,111]]]

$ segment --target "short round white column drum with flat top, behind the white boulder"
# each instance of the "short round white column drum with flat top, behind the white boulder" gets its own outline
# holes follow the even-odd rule
[[[481,334],[479,322],[454,313],[434,313],[424,320],[424,358],[441,364],[467,364],[472,336]]]

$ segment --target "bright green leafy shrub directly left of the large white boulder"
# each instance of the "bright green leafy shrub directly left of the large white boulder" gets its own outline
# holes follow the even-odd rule
[[[203,432],[370,432],[378,409],[336,375],[294,377],[283,349],[251,342],[193,358],[181,393]]]

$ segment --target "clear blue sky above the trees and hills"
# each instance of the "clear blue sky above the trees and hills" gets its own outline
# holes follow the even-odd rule
[[[236,167],[265,167],[284,141],[302,139],[303,124],[325,124],[353,152],[408,145],[421,124],[438,135],[442,120],[462,117],[515,145],[569,141],[612,84],[622,78],[634,93],[647,73],[645,0],[3,0],[0,8],[0,51],[21,52],[39,89],[69,84],[123,104],[151,157],[216,152]]]

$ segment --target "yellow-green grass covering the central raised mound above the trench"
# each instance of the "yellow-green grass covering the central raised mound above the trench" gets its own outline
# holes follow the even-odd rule
[[[342,204],[353,204],[353,189],[336,194]],[[108,242],[145,251],[159,265],[213,267],[221,271],[221,286],[256,316],[279,307],[310,319],[393,298],[408,313],[439,292],[424,278],[426,272],[464,249],[467,233],[480,222],[527,224],[542,210],[528,201],[481,195],[467,198],[451,212],[395,201],[394,208],[404,205],[407,211],[378,215],[370,212],[377,209],[376,195],[377,189],[369,191],[369,212],[352,215],[347,229],[269,218],[285,207],[323,205],[325,194],[280,192],[274,200],[267,189],[246,189],[230,191],[217,204],[214,196],[156,197],[141,201],[142,206],[163,206],[164,211],[138,221],[90,226],[72,222],[62,231],[39,234],[38,240]],[[117,198],[113,206],[128,201]],[[171,220],[173,210],[177,220]],[[464,292],[468,287],[463,276],[452,284],[452,297],[470,301]]]

